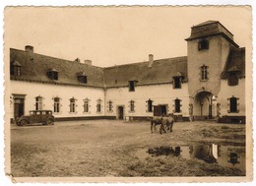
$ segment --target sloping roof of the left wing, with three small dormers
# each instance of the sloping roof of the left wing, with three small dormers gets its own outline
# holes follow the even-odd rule
[[[11,48],[10,62],[15,61],[22,66],[22,76],[11,76],[12,80],[103,88],[103,69],[100,67]],[[59,72],[57,81],[46,75],[50,69]],[[81,71],[88,77],[87,84],[77,78]]]

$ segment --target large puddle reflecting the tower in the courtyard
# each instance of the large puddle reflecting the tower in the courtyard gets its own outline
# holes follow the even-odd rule
[[[186,159],[198,158],[207,163],[218,163],[224,167],[238,168],[245,172],[245,147],[217,144],[197,144],[182,146],[161,146],[140,150],[136,153],[139,158],[149,156],[180,156]]]

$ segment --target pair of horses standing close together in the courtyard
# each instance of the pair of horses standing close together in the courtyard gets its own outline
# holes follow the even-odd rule
[[[153,126],[156,130],[157,125],[160,125],[160,134],[161,134],[161,131],[166,133],[165,129],[169,130],[169,132],[172,132],[173,122],[174,122],[173,114],[154,116],[151,119],[151,132],[153,133]]]

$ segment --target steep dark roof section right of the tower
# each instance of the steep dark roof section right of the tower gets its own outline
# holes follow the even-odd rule
[[[245,77],[245,48],[231,48],[225,62],[222,79],[226,79],[229,72],[238,72],[239,77]]]

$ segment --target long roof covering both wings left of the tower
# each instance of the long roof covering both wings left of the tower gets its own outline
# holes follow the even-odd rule
[[[184,81],[187,80],[186,56],[155,60],[152,67],[147,61],[107,68],[14,48],[10,49],[10,58],[11,63],[22,66],[22,76],[11,75],[11,80],[98,88],[125,87],[129,81],[136,81],[137,86],[166,84],[172,82],[172,77],[179,75]],[[49,71],[58,72],[58,80],[50,79],[47,76]],[[78,76],[87,76],[87,84],[80,82]]]

